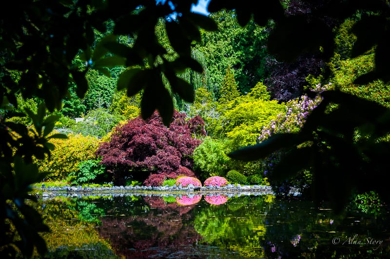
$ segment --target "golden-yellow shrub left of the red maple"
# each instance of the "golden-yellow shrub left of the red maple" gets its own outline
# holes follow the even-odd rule
[[[78,163],[96,159],[95,151],[100,140],[96,137],[81,134],[69,134],[68,139],[51,139],[55,149],[51,157],[37,160],[39,171],[49,172],[48,179],[65,179],[69,173],[78,170]]]

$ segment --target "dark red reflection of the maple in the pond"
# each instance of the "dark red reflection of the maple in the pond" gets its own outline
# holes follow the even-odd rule
[[[132,259],[164,258],[164,253],[193,249],[192,244],[201,236],[191,224],[183,224],[183,220],[191,220],[193,214],[188,212],[195,206],[166,203],[156,196],[143,199],[149,204],[145,214],[120,219],[101,218],[99,234],[110,241],[116,254]]]

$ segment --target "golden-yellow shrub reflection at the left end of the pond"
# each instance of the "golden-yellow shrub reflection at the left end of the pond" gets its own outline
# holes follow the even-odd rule
[[[87,209],[96,209],[93,203],[86,203],[57,197],[36,207],[51,230],[42,233],[49,251],[45,258],[116,258],[109,242],[96,231],[96,217],[86,220],[91,219]]]

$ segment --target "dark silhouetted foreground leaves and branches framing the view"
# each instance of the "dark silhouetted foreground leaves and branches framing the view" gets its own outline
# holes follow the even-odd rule
[[[50,154],[53,147],[47,144],[47,138],[56,118],[44,120],[45,109],[40,109],[38,114],[26,111],[34,121],[38,132],[35,135],[28,134],[21,124],[6,122],[5,118],[12,115],[17,105],[16,94],[21,93],[23,98],[40,98],[48,111],[60,110],[69,83],[77,84],[78,97],[84,96],[88,90],[85,75],[90,68],[108,75],[107,67],[125,66],[117,88],[127,89],[129,96],[142,91],[142,118],[149,118],[157,110],[163,124],[168,126],[174,117],[170,91],[184,101],[194,101],[194,89],[177,75],[186,69],[198,73],[203,70],[191,56],[191,44],[201,40],[200,28],[217,30],[212,19],[191,13],[191,6],[196,2],[14,0],[7,2],[7,8],[0,9],[0,230],[8,233],[15,226],[19,233],[11,238],[2,234],[1,256],[12,257],[13,245],[26,257],[31,255],[34,246],[40,253],[45,252],[37,233],[47,229],[37,228],[37,213],[23,205],[28,197],[28,185],[39,177],[25,172],[36,172],[32,156],[40,159]],[[305,6],[312,1],[292,2]],[[334,51],[332,28],[335,25],[329,21],[342,21],[358,14],[360,19],[352,29],[357,41],[351,56],[362,55],[376,47],[374,70],[358,77],[355,83],[375,79],[390,81],[390,7],[387,0],[318,1],[308,13],[286,12],[284,7],[278,0],[256,2],[256,6],[251,0],[211,0],[208,6],[210,12],[234,9],[241,26],[251,18],[260,26],[271,20],[274,26],[268,38],[268,51],[285,62],[304,54],[329,60]],[[167,22],[166,32],[178,55],[175,59],[167,59],[168,51],[158,42],[155,27],[160,19],[170,17],[174,12],[178,15],[176,20]],[[108,20],[115,22],[114,34],[104,37],[95,46],[95,30],[104,33]],[[118,35],[137,37],[129,47],[116,41]],[[76,55],[85,66],[73,63]],[[164,78],[169,82],[170,91]],[[281,169],[275,175],[287,177],[283,173],[294,173],[311,166],[318,201],[337,197],[334,204],[340,208],[350,190],[355,188],[376,190],[389,199],[384,193],[387,187],[384,176],[388,173],[390,149],[387,142],[381,141],[390,131],[389,110],[340,92],[324,92],[323,96],[322,107],[312,113],[300,133],[277,134],[231,156],[254,160],[279,148],[291,148],[292,152],[281,161]],[[338,107],[328,112],[326,108],[331,103]],[[356,142],[352,138],[356,129],[367,138]],[[19,135],[15,137],[13,132]],[[311,146],[298,147],[308,141]],[[302,161],[303,157],[308,159]],[[20,170],[23,166],[29,170]],[[19,212],[24,215],[22,221]]]

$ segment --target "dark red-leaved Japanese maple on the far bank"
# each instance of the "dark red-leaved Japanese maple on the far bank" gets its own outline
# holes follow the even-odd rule
[[[194,176],[192,153],[201,140],[191,133],[203,134],[202,122],[199,118],[186,122],[186,114],[175,111],[167,128],[155,111],[146,120],[137,117],[118,126],[96,154],[113,173],[116,185],[123,185],[126,178],[156,186],[178,175]]]

